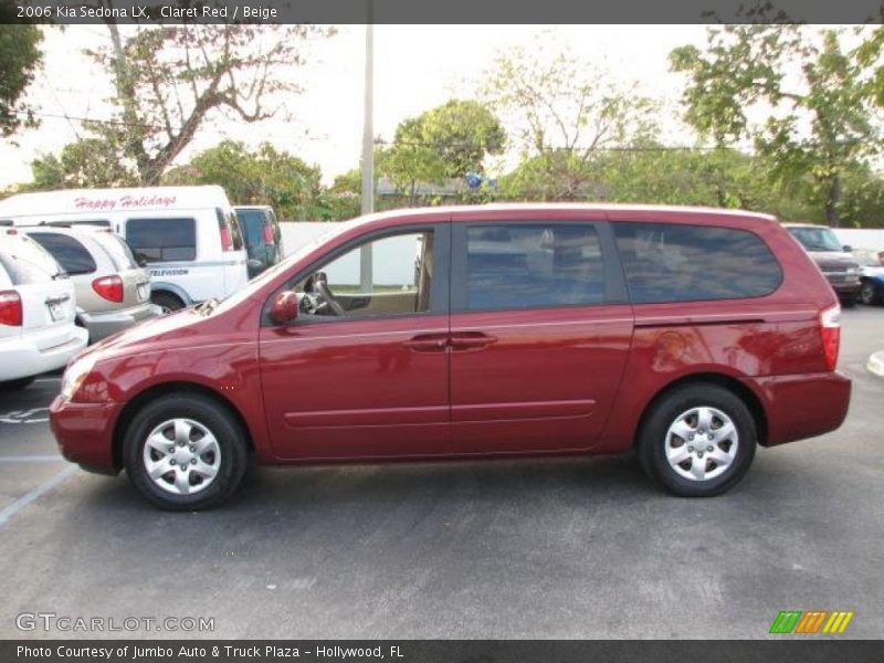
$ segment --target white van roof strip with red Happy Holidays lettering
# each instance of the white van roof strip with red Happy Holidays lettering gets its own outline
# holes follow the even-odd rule
[[[224,189],[218,186],[63,189],[10,196],[0,200],[0,215],[15,218],[228,206],[230,206],[228,196]]]

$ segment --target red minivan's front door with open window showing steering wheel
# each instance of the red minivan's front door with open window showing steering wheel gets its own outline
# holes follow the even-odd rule
[[[295,277],[290,325],[261,329],[264,408],[282,459],[444,453],[449,224],[351,242]]]

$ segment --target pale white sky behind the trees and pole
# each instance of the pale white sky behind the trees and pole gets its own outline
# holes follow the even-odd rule
[[[376,25],[375,135],[390,139],[406,117],[455,96],[470,98],[497,53],[540,39],[569,44],[577,55],[638,81],[643,94],[675,109],[683,78],[669,71],[667,55],[680,45],[702,45],[705,30],[703,25]],[[65,116],[110,116],[104,102],[112,92],[110,81],[83,54],[105,40],[104,27],[76,25],[53,30],[43,41],[44,65],[29,92],[29,101],[43,115],[42,125],[20,131],[17,145],[0,144],[0,187],[31,180],[32,159],[75,139],[80,123]],[[224,138],[250,147],[267,140],[320,166],[324,181],[330,182],[359,162],[364,57],[365,27],[338,27],[335,36],[308,46],[301,73],[304,93],[286,102],[290,119],[244,125],[213,117],[177,162]]]

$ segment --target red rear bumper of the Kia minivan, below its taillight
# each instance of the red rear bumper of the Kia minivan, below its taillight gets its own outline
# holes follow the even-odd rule
[[[839,372],[747,378],[744,381],[765,406],[766,446],[831,432],[848,415],[851,381]]]

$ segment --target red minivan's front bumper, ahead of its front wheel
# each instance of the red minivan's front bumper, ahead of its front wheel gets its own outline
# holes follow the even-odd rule
[[[116,474],[114,427],[123,403],[74,403],[59,394],[49,409],[59,450],[91,472]]]

